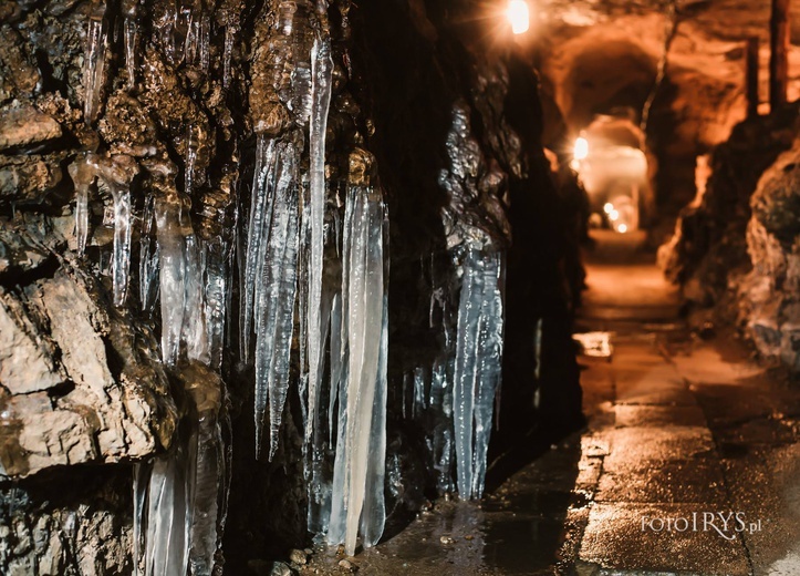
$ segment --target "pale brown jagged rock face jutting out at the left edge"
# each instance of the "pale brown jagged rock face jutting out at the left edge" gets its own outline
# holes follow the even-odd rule
[[[157,358],[137,353],[154,347],[152,337],[110,312],[83,272],[7,230],[3,278],[20,270],[37,278],[0,291],[0,382],[13,423],[3,430],[17,436],[2,442],[11,446],[0,453],[2,473],[19,479],[167,448],[176,421],[167,378]]]

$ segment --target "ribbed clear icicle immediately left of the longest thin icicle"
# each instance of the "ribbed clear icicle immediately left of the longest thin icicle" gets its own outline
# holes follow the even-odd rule
[[[295,144],[278,145],[278,167],[269,226],[259,241],[264,257],[257,263],[256,294],[256,453],[261,438],[267,402],[270,408],[270,460],[278,449],[278,433],[289,387],[289,358],[294,326],[298,251],[300,248]]]

